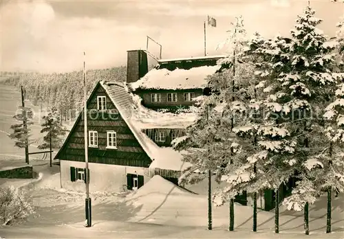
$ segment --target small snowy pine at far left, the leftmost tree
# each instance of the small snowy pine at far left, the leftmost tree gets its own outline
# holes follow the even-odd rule
[[[30,145],[30,125],[34,124],[32,122],[32,109],[30,107],[19,106],[19,109],[16,111],[16,114],[13,117],[21,123],[12,124],[10,128],[13,130],[13,133],[8,136],[11,139],[14,139],[14,146],[17,146],[19,148],[26,148]],[[29,163],[26,157],[27,156],[25,153],[25,163]]]

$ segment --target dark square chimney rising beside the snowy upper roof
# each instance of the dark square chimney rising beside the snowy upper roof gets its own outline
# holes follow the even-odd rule
[[[127,52],[127,83],[136,82],[148,72],[147,54],[143,50]]]

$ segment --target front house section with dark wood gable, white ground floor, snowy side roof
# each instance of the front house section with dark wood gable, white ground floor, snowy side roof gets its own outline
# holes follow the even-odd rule
[[[151,118],[162,119],[158,112],[136,104],[125,84],[98,82],[87,100],[90,190],[136,189],[155,174],[178,182],[188,165],[181,161],[180,152],[160,148],[142,133],[144,122],[139,116],[150,113]],[[85,190],[83,119],[80,113],[55,157],[60,161],[61,185],[69,190]]]

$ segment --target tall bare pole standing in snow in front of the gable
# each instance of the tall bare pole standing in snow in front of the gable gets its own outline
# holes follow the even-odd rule
[[[86,227],[92,226],[91,220],[91,198],[89,198],[89,168],[88,168],[88,144],[87,144],[87,89],[86,89],[86,69],[85,69],[85,58],[84,52],[84,136],[85,136],[85,183],[86,183],[86,200],[85,200],[85,216],[86,216]]]

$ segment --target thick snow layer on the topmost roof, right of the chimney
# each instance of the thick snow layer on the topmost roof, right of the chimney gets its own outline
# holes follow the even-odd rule
[[[208,84],[206,77],[213,75],[219,65],[193,67],[191,69],[151,69],[140,80],[131,83],[136,89],[203,89]]]

